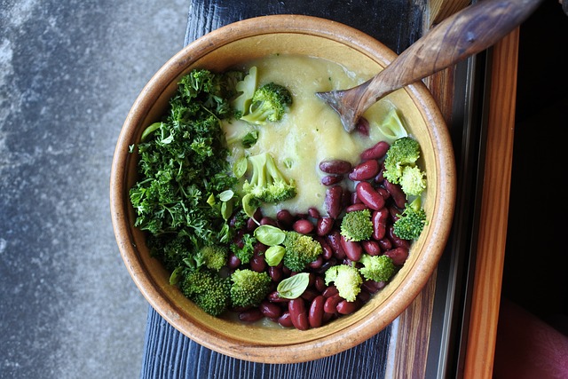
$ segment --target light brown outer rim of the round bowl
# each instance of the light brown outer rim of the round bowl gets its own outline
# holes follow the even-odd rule
[[[438,265],[438,260],[443,253],[450,233],[452,217],[447,217],[448,219],[445,222],[430,227],[430,233],[435,238],[429,240],[430,245],[425,247],[425,249],[431,249],[435,253],[430,254],[428,257],[421,257],[421,259],[414,262],[414,270],[424,274],[419,275],[417,278],[411,276],[401,281],[400,286],[390,296],[390,304],[396,305],[394,308],[379,307],[370,317],[357,321],[350,328],[343,328],[331,335],[305,343],[288,344],[286,345],[287,349],[279,351],[280,355],[278,356],[273,354],[274,346],[272,345],[242,343],[241,341],[222,336],[212,328],[202,328],[201,324],[197,327],[191,320],[182,320],[178,317],[177,306],[170,304],[165,299],[162,290],[155,288],[146,279],[146,267],[139,259],[136,259],[137,254],[134,252],[135,246],[133,246],[134,238],[130,230],[131,225],[128,225],[127,222],[129,220],[127,216],[128,201],[125,200],[128,200],[128,196],[126,196],[123,190],[127,178],[128,147],[133,134],[136,132],[136,130],[130,130],[128,126],[131,124],[136,125],[141,119],[144,119],[150,107],[152,107],[152,103],[146,99],[146,95],[156,90],[163,90],[173,83],[179,75],[180,67],[188,67],[194,60],[217,49],[219,45],[233,43],[235,34],[240,36],[237,39],[242,39],[274,33],[309,34],[329,38],[375,59],[378,57],[385,64],[390,63],[397,56],[394,51],[390,51],[383,43],[356,28],[351,28],[334,20],[306,15],[280,14],[260,16],[228,24],[211,31],[205,36],[201,36],[178,51],[153,75],[131,107],[123,123],[114,151],[110,177],[110,208],[115,238],[132,280],[134,280],[148,303],[170,325],[195,342],[233,358],[263,363],[296,363],[324,358],[345,351],[356,344],[362,343],[371,336],[375,336],[375,334],[395,320],[400,312],[403,312],[422,291],[431,273],[434,272]],[[445,151],[446,154],[437,157],[438,170],[446,173],[439,180],[440,192],[438,194],[439,201],[443,201],[443,212],[447,215],[453,215],[455,203],[454,152],[451,149],[452,144],[446,129],[446,122],[430,91],[423,83],[414,83],[406,86],[402,91],[406,91],[414,100],[424,118],[424,122],[429,125],[436,125],[436,128],[430,130],[430,135],[435,137],[431,138],[431,140],[438,146],[444,146],[446,149],[440,149],[440,151]]]

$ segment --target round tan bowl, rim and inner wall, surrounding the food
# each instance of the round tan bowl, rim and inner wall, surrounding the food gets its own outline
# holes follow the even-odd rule
[[[395,278],[358,312],[322,328],[299,331],[251,326],[211,317],[174,286],[170,273],[150,257],[144,233],[132,225],[129,189],[137,179],[137,154],[129,153],[145,127],[160,119],[177,80],[194,67],[224,70],[272,53],[304,54],[351,68],[365,79],[396,57],[382,43],[354,28],[309,16],[278,15],[242,20],[189,44],[147,83],[128,114],[114,153],[111,210],[114,233],[126,267],[147,301],[170,324],[197,343],[257,362],[295,363],[347,350],[387,327],[419,294],[438,264],[454,212],[455,168],[446,124],[422,83],[389,95],[422,146],[428,190],[423,206],[430,223],[415,241]]]

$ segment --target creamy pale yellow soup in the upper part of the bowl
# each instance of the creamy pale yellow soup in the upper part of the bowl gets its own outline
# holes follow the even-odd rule
[[[357,131],[348,133],[338,114],[315,93],[358,85],[363,79],[357,73],[334,62],[306,56],[276,55],[247,65],[253,66],[257,67],[258,85],[274,82],[287,87],[292,93],[293,104],[280,122],[265,125],[244,121],[226,123],[224,130],[232,151],[231,159],[236,161],[243,154],[268,152],[284,176],[296,182],[296,197],[277,205],[263,206],[264,215],[273,217],[280,209],[305,213],[311,207],[326,215],[327,186],[321,184],[321,178],[326,174],[319,170],[319,162],[341,159],[357,164],[363,150],[380,140],[388,140],[376,125],[393,106],[383,100],[364,114],[371,125],[368,137]],[[251,130],[258,130],[258,140],[254,146],[244,149],[241,138]]]

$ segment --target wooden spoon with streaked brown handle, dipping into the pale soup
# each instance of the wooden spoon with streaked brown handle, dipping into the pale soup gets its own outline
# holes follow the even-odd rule
[[[430,29],[367,82],[317,95],[335,109],[343,128],[351,132],[361,114],[379,99],[492,46],[526,20],[541,1],[484,0],[470,5]]]

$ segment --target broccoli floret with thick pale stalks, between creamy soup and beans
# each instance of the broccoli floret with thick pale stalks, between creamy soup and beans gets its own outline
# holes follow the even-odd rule
[[[272,155],[262,153],[248,157],[252,164],[252,176],[242,186],[245,193],[251,193],[256,199],[277,203],[296,196],[294,180],[287,180],[276,167]]]

